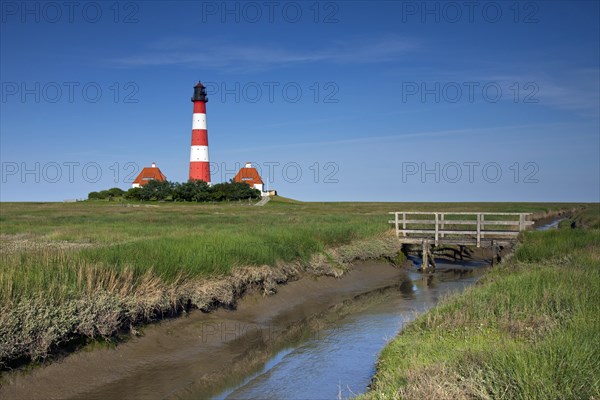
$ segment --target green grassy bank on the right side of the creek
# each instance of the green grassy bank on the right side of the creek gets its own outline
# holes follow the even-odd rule
[[[529,232],[380,355],[366,399],[600,398],[600,208]]]

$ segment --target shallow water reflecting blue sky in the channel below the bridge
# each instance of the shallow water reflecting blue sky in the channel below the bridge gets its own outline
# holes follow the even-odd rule
[[[473,264],[481,269],[482,263]],[[439,266],[448,267],[454,266]],[[463,273],[441,273],[429,281],[410,274],[392,290],[357,299],[363,307],[356,305],[358,309],[332,321],[316,337],[281,350],[260,372],[214,398],[336,399],[364,393],[386,342],[444,295],[462,291],[477,280],[479,273],[465,273],[465,268]],[[204,393],[195,395],[199,398]]]

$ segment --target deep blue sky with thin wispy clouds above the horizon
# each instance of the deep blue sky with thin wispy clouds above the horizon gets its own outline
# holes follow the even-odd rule
[[[600,201],[599,2],[2,1],[2,201],[245,161],[307,201]]]

